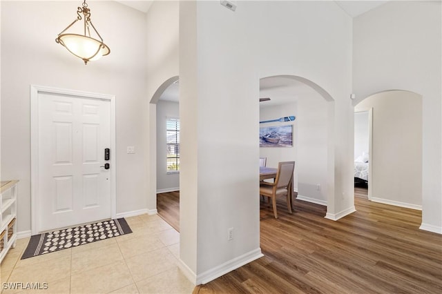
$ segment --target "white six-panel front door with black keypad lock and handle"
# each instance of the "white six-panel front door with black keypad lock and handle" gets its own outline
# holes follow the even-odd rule
[[[108,100],[38,93],[37,231],[111,217],[110,117]]]

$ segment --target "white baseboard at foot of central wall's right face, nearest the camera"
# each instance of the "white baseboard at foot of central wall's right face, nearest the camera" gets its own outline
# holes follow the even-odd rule
[[[240,268],[244,264],[253,262],[253,260],[256,260],[263,256],[264,255],[261,253],[261,248],[257,248],[241,256],[235,257],[228,262],[224,262],[224,264],[221,264],[220,266],[215,266],[209,271],[205,271],[204,273],[198,275],[196,277],[195,284],[199,285],[209,283],[212,280],[215,280],[217,277],[221,277],[222,275],[236,270],[236,268]]]

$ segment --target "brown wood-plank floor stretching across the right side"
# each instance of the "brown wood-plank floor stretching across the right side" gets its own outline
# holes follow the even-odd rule
[[[275,219],[261,202],[265,257],[193,293],[442,293],[442,236],[419,230],[421,211],[355,195],[357,211],[336,222],[300,200],[289,215],[284,199]]]

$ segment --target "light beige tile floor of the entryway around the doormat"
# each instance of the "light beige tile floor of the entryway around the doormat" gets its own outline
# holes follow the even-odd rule
[[[180,234],[157,215],[126,218],[133,233],[21,260],[29,238],[17,240],[1,263],[2,294],[192,293],[178,268]],[[10,282],[47,289],[12,290]]]

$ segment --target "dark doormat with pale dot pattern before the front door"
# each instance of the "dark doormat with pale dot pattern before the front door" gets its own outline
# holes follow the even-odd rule
[[[64,228],[30,237],[28,247],[21,259],[60,251],[95,241],[132,233],[126,219],[111,219],[95,224]]]

